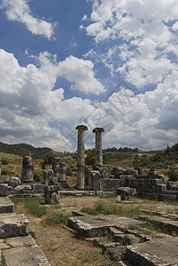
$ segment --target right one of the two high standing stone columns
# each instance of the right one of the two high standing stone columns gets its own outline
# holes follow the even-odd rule
[[[104,132],[103,128],[95,128],[95,129],[93,129],[93,133],[96,133],[95,164],[98,167],[103,166],[102,132]]]

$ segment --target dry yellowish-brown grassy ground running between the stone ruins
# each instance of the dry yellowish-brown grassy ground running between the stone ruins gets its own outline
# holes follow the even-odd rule
[[[60,209],[73,210],[81,207],[92,207],[99,200],[98,197],[62,197],[60,200]],[[115,198],[108,198],[114,203]],[[153,200],[138,200],[139,203],[120,204],[120,207],[144,207],[165,210],[166,212],[174,212],[178,210],[177,205],[167,205],[163,202]],[[116,203],[115,203],[116,204]],[[51,206],[50,206],[51,208]],[[55,210],[55,207],[53,207]],[[58,211],[58,208],[56,208]],[[16,213],[24,213],[29,220],[29,227],[35,231],[35,241],[39,245],[44,254],[46,254],[51,266],[109,266],[119,265],[112,262],[109,258],[102,254],[101,249],[93,246],[92,243],[86,240],[77,239],[73,232],[68,231],[63,225],[47,225],[45,216],[36,218],[27,212],[27,209],[22,204],[15,209]]]

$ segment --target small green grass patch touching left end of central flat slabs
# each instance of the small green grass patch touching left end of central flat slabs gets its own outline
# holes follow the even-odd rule
[[[59,211],[58,213],[50,212],[47,215],[46,223],[47,224],[66,224],[69,217],[72,216],[72,213]]]

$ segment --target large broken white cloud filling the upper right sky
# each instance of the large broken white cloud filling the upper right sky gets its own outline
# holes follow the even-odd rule
[[[119,72],[142,89],[174,72],[177,8],[176,0],[94,0],[86,33],[108,48],[101,60],[112,75]]]

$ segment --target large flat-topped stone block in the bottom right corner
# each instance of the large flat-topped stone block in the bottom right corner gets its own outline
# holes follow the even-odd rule
[[[178,238],[151,239],[127,246],[128,262],[134,266],[177,266]]]

